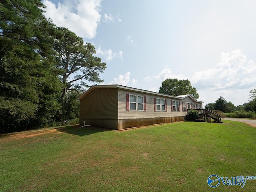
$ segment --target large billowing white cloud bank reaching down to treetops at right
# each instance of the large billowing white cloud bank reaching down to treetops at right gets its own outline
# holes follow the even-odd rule
[[[216,66],[194,73],[191,83],[198,90],[200,100],[207,104],[222,96],[234,105],[248,102],[249,91],[256,85],[256,63],[246,59],[240,49],[221,53]]]

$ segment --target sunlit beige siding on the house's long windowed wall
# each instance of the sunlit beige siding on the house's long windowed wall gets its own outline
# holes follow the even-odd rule
[[[146,96],[146,111],[126,111],[126,94],[136,96]],[[167,100],[167,111],[154,111],[154,97]],[[180,101],[180,111],[171,110],[171,100]],[[138,106],[137,106],[138,107]],[[152,117],[178,117],[185,116],[186,112],[182,111],[182,100],[171,99],[170,97],[160,97],[135,91],[118,89],[118,119],[140,119]]]

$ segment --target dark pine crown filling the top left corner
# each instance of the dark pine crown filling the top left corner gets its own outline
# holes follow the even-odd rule
[[[40,0],[1,0],[0,38],[9,40],[8,44],[29,45],[44,57],[52,53],[50,38],[55,28],[42,14],[44,7]]]

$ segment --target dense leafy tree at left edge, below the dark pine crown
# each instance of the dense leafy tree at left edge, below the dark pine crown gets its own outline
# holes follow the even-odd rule
[[[0,59],[0,132],[37,127],[56,114],[60,82],[48,68],[28,46],[5,51]]]

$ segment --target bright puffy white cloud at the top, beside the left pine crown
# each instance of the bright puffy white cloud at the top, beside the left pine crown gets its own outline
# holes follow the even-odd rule
[[[51,18],[57,26],[68,28],[82,38],[93,38],[100,22],[101,0],[64,0],[57,6],[49,0],[44,0],[46,6],[44,15]]]

